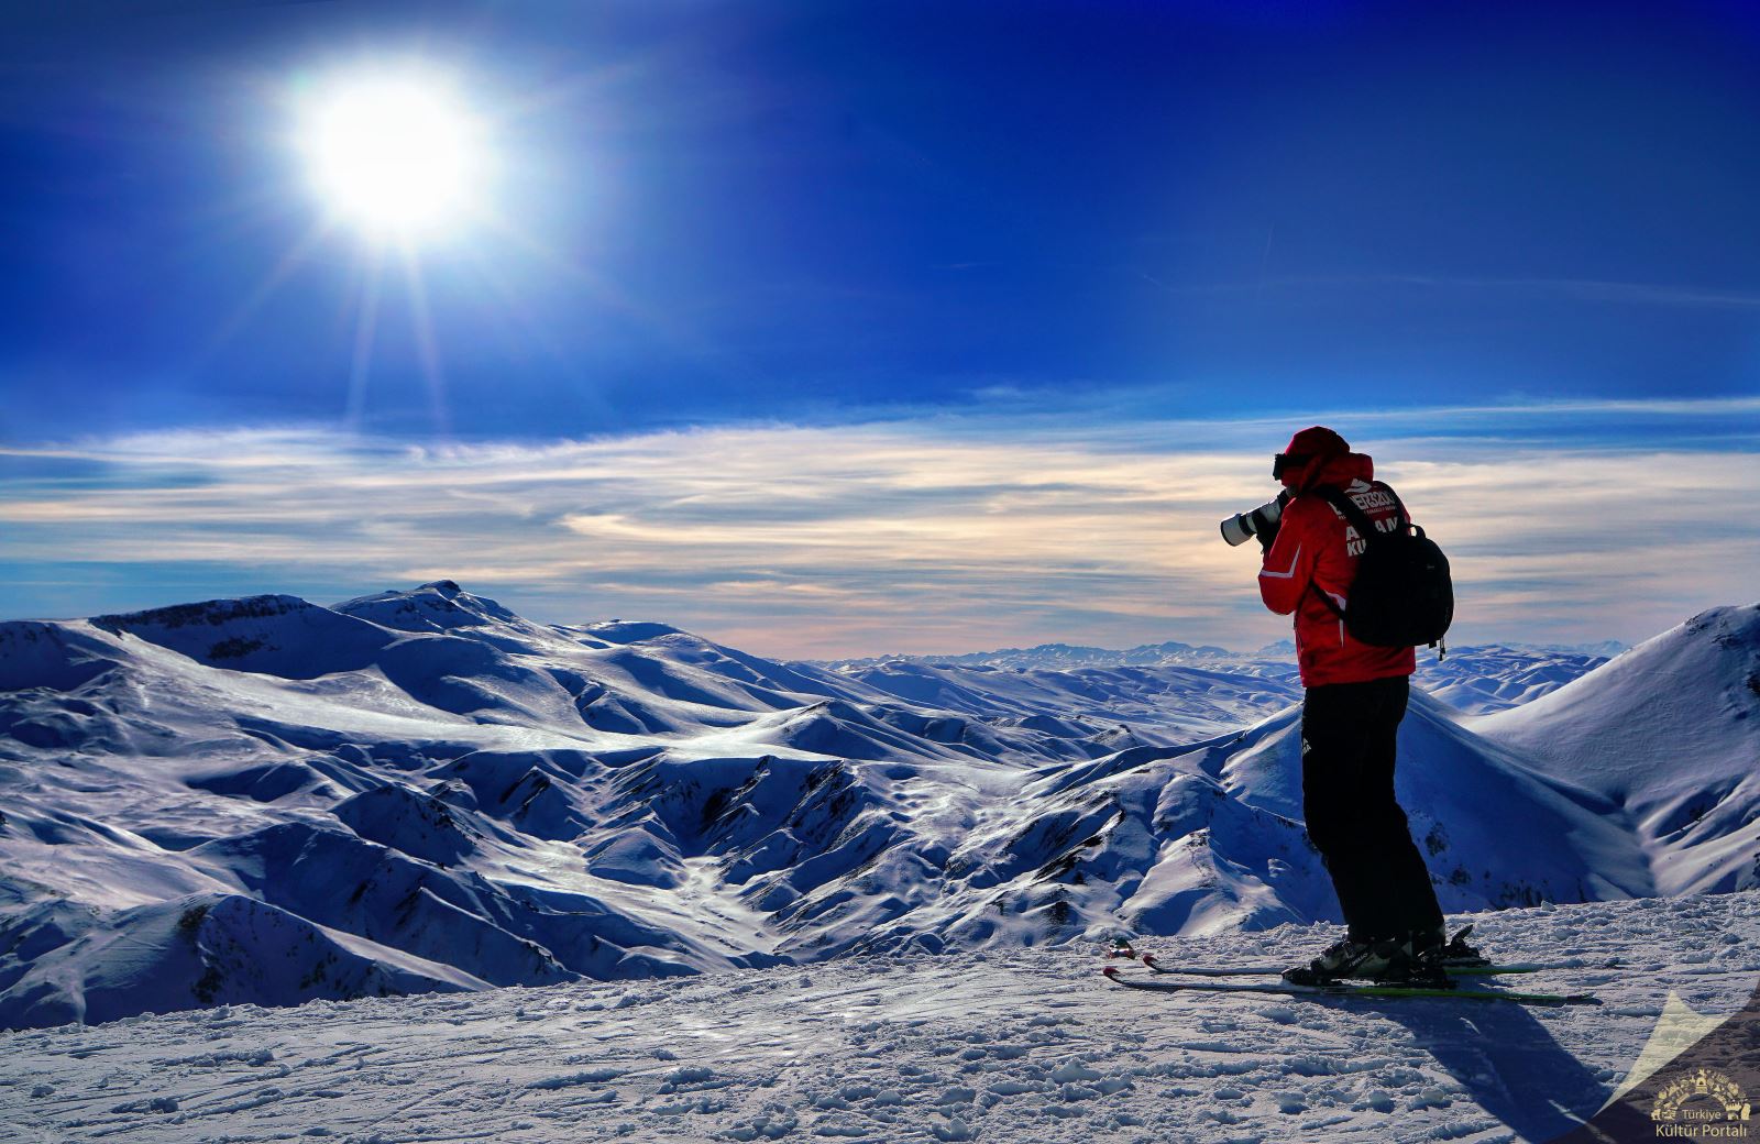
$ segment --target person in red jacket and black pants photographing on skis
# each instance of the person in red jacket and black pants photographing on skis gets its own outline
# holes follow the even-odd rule
[[[1295,614],[1295,662],[1306,688],[1302,811],[1348,926],[1343,942],[1285,977],[1299,984],[1339,977],[1441,984],[1445,957],[1471,950],[1445,954],[1436,891],[1394,799],[1396,736],[1417,655],[1359,642],[1345,630],[1339,612],[1350,607],[1364,539],[1311,493],[1341,489],[1389,530],[1401,505],[1376,484],[1375,463],[1324,426],[1297,433],[1278,454],[1272,475],[1285,488],[1283,512],[1276,528],[1258,537],[1265,549],[1258,595],[1280,616]]]

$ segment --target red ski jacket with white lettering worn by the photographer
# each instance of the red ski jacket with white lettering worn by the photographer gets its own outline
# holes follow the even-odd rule
[[[1338,509],[1304,495],[1304,489],[1320,484],[1345,489],[1376,523],[1397,512],[1394,500],[1369,488],[1375,463],[1362,452],[1316,458],[1308,468],[1311,472],[1283,479],[1295,498],[1285,505],[1278,539],[1258,572],[1258,595],[1265,607],[1280,616],[1295,612],[1295,664],[1302,672],[1302,686],[1410,676],[1417,671],[1417,653],[1412,648],[1376,648],[1352,639],[1345,621],[1316,597],[1324,591],[1339,607],[1350,607],[1350,583],[1357,576],[1362,537]]]

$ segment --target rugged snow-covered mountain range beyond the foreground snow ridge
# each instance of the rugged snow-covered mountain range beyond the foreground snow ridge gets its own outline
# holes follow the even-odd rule
[[[1705,671],[1683,702],[1737,665]],[[1297,699],[1218,667],[778,664],[449,581],[0,625],[0,1024],[1332,919]],[[1563,709],[1570,743],[1626,704]],[[1422,693],[1403,727],[1447,908],[1695,884],[1514,727]]]

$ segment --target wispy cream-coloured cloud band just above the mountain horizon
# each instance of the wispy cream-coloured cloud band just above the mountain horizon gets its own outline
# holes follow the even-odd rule
[[[1216,521],[1276,491],[1267,454],[1309,421],[1360,438],[1447,546],[1461,639],[1635,639],[1753,595],[1760,524],[1741,510],[1760,493],[1753,451],[1496,431],[1536,410],[1739,421],[1760,398],[1130,426],[998,414],[539,445],[289,429],[12,449],[7,614],[51,598],[28,583],[42,568],[181,565],[231,568],[227,591],[241,577],[262,591],[368,591],[447,576],[544,620],[649,616],[773,655],[1255,646],[1287,620],[1258,607],[1257,547],[1227,547]],[[1445,436],[1464,422],[1482,431]],[[169,602],[150,577],[132,591],[93,590],[88,611]]]

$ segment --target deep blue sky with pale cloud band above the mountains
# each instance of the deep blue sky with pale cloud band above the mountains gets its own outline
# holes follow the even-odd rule
[[[1468,635],[1753,595],[1742,5],[120,7],[0,18],[4,614],[433,572],[769,653],[1255,646],[1211,517],[1320,419],[1457,526]],[[493,216],[375,260],[292,109],[414,58]],[[1646,556],[1561,560],[1591,512]]]

